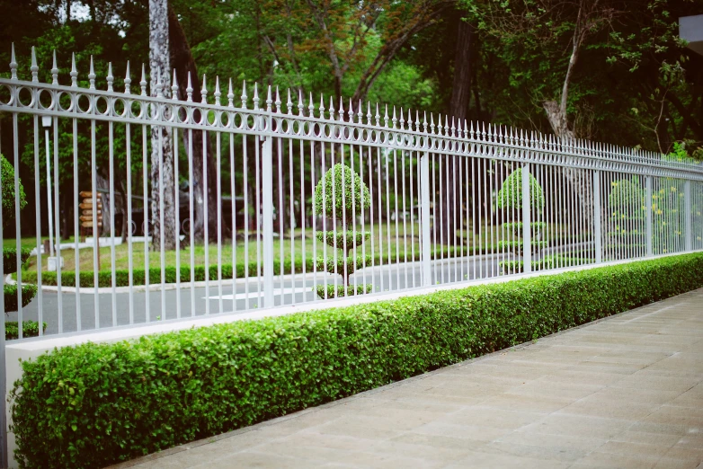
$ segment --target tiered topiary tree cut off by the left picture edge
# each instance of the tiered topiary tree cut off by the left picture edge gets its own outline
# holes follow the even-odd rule
[[[3,155],[0,155],[0,180],[3,185],[3,227],[14,223],[14,168]],[[20,209],[27,205],[22,182],[19,190]],[[19,235],[19,234],[18,234]],[[17,265],[17,250],[13,247],[3,248],[3,274],[11,274],[22,269],[22,264],[30,257],[30,250],[22,249],[20,265]],[[22,306],[29,305],[31,298],[37,295],[36,285],[22,285]],[[4,312],[17,311],[17,286],[4,285]]]

